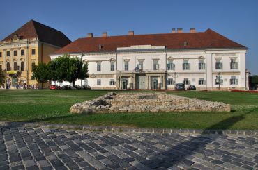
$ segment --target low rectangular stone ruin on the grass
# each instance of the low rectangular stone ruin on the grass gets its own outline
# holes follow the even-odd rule
[[[76,103],[70,108],[74,114],[125,112],[230,112],[230,105],[222,102],[190,99],[157,93],[114,93]]]

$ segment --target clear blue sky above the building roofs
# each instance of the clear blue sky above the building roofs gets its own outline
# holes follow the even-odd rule
[[[258,74],[258,1],[1,1],[0,39],[34,19],[65,33],[70,40],[87,33],[100,36],[188,32],[211,28],[248,46],[246,67]]]

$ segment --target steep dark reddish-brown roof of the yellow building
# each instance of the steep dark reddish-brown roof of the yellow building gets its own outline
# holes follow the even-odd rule
[[[34,20],[30,20],[1,41],[11,40],[15,33],[17,33],[19,37],[22,37],[22,39],[31,39],[37,37],[41,42],[46,42],[48,44],[60,47],[66,46],[71,42],[68,37],[66,37],[66,35],[64,35],[61,31],[57,31],[54,28],[45,26],[44,24]]]

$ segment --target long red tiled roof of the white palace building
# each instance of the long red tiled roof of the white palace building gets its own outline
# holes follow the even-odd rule
[[[185,41],[188,43],[187,46],[184,46]],[[103,47],[101,50],[98,49],[99,45]],[[85,37],[75,40],[55,53],[116,51],[117,47],[129,47],[133,45],[166,46],[167,49],[246,48],[208,29],[203,33]]]

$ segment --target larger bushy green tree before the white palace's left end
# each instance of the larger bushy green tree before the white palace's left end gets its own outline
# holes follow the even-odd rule
[[[88,65],[84,64],[79,58],[70,58],[68,54],[63,54],[50,62],[50,70],[52,80],[68,81],[73,83],[77,79],[85,79],[88,77]]]

